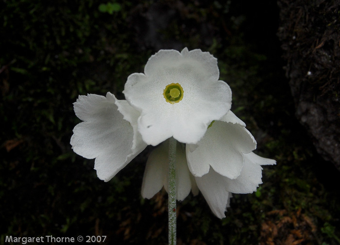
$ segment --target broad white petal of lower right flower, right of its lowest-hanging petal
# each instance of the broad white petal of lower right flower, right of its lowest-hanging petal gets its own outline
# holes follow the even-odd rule
[[[241,174],[235,180],[225,178],[227,190],[232,193],[246,194],[253,193],[259,184],[262,184],[262,167],[250,161],[244,154],[245,161]]]

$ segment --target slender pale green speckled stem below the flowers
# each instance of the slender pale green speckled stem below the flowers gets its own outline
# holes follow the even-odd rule
[[[176,143],[169,140],[169,245],[176,245]]]

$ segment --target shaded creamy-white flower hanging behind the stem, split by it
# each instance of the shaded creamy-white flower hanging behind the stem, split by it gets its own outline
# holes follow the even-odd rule
[[[187,167],[186,155],[183,147],[177,144],[176,148],[176,199],[179,201],[189,195],[191,188],[197,194],[197,187],[192,183],[190,172]],[[142,196],[153,197],[162,186],[168,192],[169,186],[169,144],[164,142],[150,154],[142,183]]]

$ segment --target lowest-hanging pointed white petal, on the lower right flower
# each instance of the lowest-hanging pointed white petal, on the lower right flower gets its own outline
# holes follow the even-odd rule
[[[213,169],[208,174],[195,178],[197,186],[211,211],[220,219],[225,217],[224,212],[229,201],[229,192],[226,188],[225,179]]]

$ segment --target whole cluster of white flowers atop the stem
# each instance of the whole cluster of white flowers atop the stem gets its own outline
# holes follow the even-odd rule
[[[176,148],[176,198],[202,192],[219,218],[231,193],[256,191],[262,183],[260,165],[274,160],[253,153],[256,141],[245,124],[230,111],[231,91],[219,81],[217,60],[200,49],[160,50],[143,73],[128,77],[118,100],[111,93],[79,96],[71,145],[77,154],[95,158],[101,180],[111,180],[147,145],[150,154],[142,183],[142,196],[168,191],[168,138]]]

